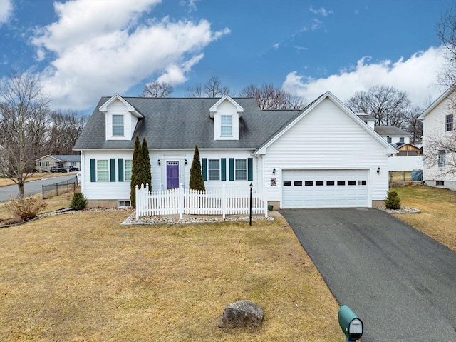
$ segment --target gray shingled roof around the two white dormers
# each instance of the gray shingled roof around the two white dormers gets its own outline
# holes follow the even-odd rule
[[[261,111],[255,99],[233,98],[244,108],[239,119],[239,140],[214,140],[214,119],[209,108],[218,99],[124,97],[140,119],[128,141],[105,140],[105,114],[98,111],[110,99],[103,97],[73,149],[133,149],[135,135],[147,139],[150,149],[257,149],[301,111]]]

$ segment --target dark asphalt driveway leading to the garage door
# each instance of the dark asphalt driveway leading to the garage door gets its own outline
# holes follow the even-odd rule
[[[363,320],[363,342],[456,341],[455,252],[377,209],[280,213],[338,303]]]

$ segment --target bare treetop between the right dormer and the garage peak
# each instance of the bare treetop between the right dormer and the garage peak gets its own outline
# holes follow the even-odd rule
[[[263,84],[261,88],[251,84],[242,89],[239,96],[257,99],[259,109],[304,109],[306,106],[306,101],[301,97],[276,88],[272,84]]]

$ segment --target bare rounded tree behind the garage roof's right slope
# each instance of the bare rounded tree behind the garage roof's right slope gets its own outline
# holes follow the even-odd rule
[[[405,128],[405,115],[410,109],[410,99],[405,91],[392,86],[373,86],[368,91],[357,91],[346,102],[356,113],[375,117],[376,126]]]

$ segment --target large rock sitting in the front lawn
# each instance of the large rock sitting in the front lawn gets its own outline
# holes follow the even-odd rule
[[[227,305],[220,319],[219,327],[259,326],[263,318],[263,309],[257,304],[251,301],[237,301]]]

